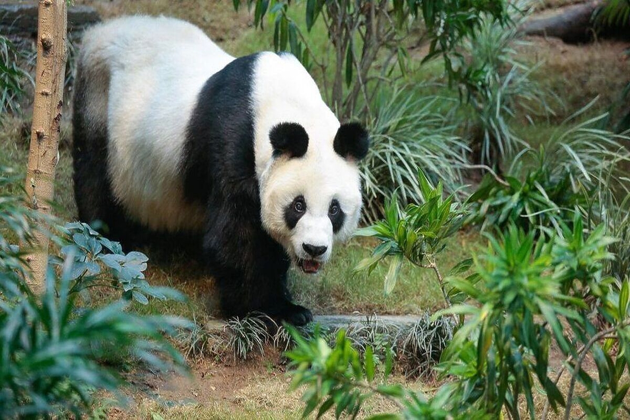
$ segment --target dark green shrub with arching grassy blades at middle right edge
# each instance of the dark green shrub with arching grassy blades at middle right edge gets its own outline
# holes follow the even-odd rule
[[[469,197],[468,222],[499,230],[515,224],[524,230],[571,223],[573,213],[587,214],[593,197],[609,189],[627,189],[621,162],[630,159],[622,134],[597,128],[604,115],[570,124],[592,106],[582,108],[536,151],[525,148],[507,169],[505,179],[486,174]]]

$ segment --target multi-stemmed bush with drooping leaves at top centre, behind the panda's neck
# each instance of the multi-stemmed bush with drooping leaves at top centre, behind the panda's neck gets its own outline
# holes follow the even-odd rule
[[[505,3],[500,0],[467,0],[456,3],[423,0],[418,2],[349,0],[307,0],[304,14],[306,32],[318,21],[323,22],[331,40],[332,59],[316,57],[303,32],[287,13],[287,0],[234,0],[234,7],[246,3],[254,8],[254,25],[263,26],[265,16],[273,21],[273,44],[276,50],[290,50],[307,68],[315,64],[323,75],[324,91],[333,110],[343,119],[355,114],[371,115],[369,108],[372,93],[368,83],[379,85],[398,64],[406,68],[406,52],[402,42],[408,35],[408,26],[421,18],[427,28],[430,49],[425,59],[436,55],[444,57],[447,73],[456,78],[461,73],[452,66],[453,57],[459,57],[456,48],[462,38],[474,33],[481,25],[482,15],[507,23],[509,16]],[[381,57],[386,56],[382,60]],[[375,64],[381,64],[380,69]],[[333,76],[328,76],[328,66]],[[344,91],[344,84],[348,86]],[[362,101],[360,100],[362,98]],[[357,105],[362,109],[357,110]]]

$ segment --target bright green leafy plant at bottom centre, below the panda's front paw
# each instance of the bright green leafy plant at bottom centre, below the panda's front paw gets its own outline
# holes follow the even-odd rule
[[[295,339],[295,348],[287,353],[291,359],[289,371],[293,390],[306,386],[302,396],[305,402],[302,418],[317,409],[317,417],[334,409],[335,417],[347,414],[356,418],[365,400],[379,395],[396,406],[397,412],[376,414],[369,419],[482,419],[489,418],[479,412],[467,411],[453,414],[456,410],[448,387],[428,398],[420,392],[404,388],[400,384],[388,384],[392,371],[392,353],[388,352],[383,363],[376,363],[372,347],[368,346],[363,357],[353,348],[345,331],[336,335],[330,347],[316,330],[308,341],[297,330],[287,326]],[[319,407],[319,408],[318,408]]]

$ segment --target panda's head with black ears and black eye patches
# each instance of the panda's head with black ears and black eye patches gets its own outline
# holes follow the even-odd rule
[[[323,127],[322,127],[323,125]],[[272,157],[260,182],[261,219],[302,271],[318,272],[333,243],[347,239],[361,211],[361,125],[280,122],[268,131]]]

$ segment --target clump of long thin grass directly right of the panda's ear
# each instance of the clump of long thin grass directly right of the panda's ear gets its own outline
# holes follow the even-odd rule
[[[379,91],[376,115],[368,123],[370,151],[361,164],[365,221],[380,219],[392,194],[403,204],[422,202],[419,169],[440,178],[449,192],[459,188],[467,146],[440,112],[440,107],[453,105],[449,98],[423,96],[408,87]]]

